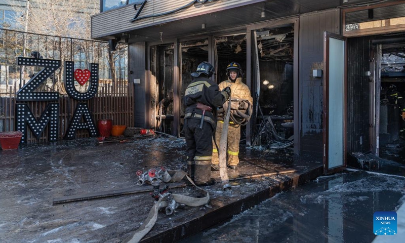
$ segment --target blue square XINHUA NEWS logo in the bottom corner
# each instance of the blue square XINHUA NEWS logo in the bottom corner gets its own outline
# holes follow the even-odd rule
[[[397,233],[395,212],[375,212],[373,221],[375,235],[395,235]]]

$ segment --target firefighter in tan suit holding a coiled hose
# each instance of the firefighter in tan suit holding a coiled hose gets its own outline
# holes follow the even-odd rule
[[[227,139],[227,166],[236,170],[239,164],[239,140],[240,140],[240,126],[246,125],[252,115],[253,98],[247,85],[242,83],[243,72],[240,65],[236,62],[231,62],[226,68],[228,80],[219,84],[220,89],[230,87],[231,89],[231,114],[228,127]],[[227,105],[226,102],[224,105]],[[221,140],[222,128],[224,126],[226,107],[218,110],[217,129],[215,131],[215,140],[218,148]],[[213,147],[212,154],[212,169],[219,170],[219,158],[216,145]]]

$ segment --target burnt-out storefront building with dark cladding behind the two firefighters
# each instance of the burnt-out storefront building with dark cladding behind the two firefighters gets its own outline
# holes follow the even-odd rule
[[[246,144],[265,142],[269,118],[276,138],[323,158],[329,173],[348,154],[378,155],[379,144],[400,137],[399,108],[381,97],[391,84],[405,88],[404,8],[404,1],[103,0],[92,37],[130,46],[136,127],[182,136],[189,74],[209,61],[219,84],[235,61],[255,103]]]

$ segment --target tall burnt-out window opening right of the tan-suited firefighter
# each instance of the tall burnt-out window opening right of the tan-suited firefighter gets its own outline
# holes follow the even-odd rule
[[[255,32],[255,78],[259,98],[257,133],[252,145],[289,147],[294,139],[294,25]]]

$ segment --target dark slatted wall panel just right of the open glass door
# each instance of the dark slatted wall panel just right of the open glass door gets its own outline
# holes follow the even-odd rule
[[[368,152],[370,76],[365,73],[370,71],[370,37],[349,38],[347,48],[347,152]]]

